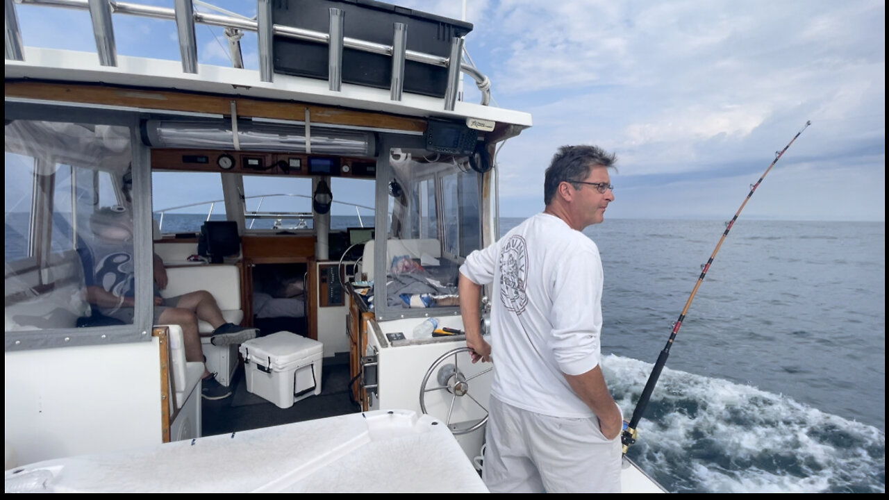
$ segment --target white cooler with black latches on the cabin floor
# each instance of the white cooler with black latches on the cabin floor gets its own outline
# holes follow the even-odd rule
[[[321,393],[324,344],[291,332],[256,337],[241,344],[247,391],[289,408]],[[314,390],[314,391],[313,391]]]

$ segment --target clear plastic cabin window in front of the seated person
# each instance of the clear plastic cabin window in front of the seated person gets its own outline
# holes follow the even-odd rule
[[[129,127],[7,120],[4,130],[6,347],[83,345],[102,334],[70,329],[132,325]]]

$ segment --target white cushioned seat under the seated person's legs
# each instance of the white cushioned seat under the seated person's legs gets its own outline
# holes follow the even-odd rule
[[[198,290],[206,290],[216,299],[222,318],[228,323],[240,325],[244,319],[241,309],[241,271],[233,264],[205,264],[200,266],[167,268],[167,286],[161,296],[174,297]],[[201,348],[207,370],[215,373],[216,380],[228,387],[237,368],[237,345],[213,345],[210,334],[213,327],[204,320],[197,322],[201,334]]]

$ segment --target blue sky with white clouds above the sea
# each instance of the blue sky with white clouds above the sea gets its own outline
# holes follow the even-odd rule
[[[461,18],[458,0],[397,4]],[[95,51],[86,12],[17,7],[25,44]],[[114,19],[119,53],[179,58],[172,21]],[[885,221],[883,1],[469,0],[467,20],[493,104],[533,115],[498,157],[501,215],[541,211],[553,153],[592,143],[618,156],[608,217],[728,220],[811,120],[741,217]],[[228,64],[221,28],[197,35],[200,63]]]

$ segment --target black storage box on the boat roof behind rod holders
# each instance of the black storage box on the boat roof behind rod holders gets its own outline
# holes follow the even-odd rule
[[[402,22],[407,26],[407,50],[445,58],[451,55],[451,39],[472,31],[469,22],[372,0],[275,0],[272,22],[328,33],[331,8],[338,8],[344,14],[344,36],[391,45],[395,23]],[[274,70],[285,75],[326,80],[327,48],[327,44],[274,36]],[[388,89],[391,80],[390,56],[343,47],[343,82]],[[404,92],[444,97],[446,88],[446,68],[414,60],[404,61]]]

